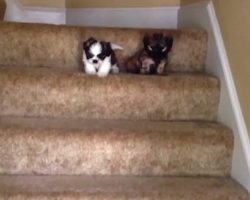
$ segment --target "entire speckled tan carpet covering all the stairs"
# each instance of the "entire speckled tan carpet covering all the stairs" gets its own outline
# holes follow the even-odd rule
[[[168,75],[84,74],[82,43],[174,38]],[[0,200],[249,200],[200,29],[0,23]]]

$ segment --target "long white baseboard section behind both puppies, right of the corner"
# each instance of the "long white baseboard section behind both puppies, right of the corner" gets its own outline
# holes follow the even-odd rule
[[[66,24],[105,27],[176,28],[179,7],[67,9]]]

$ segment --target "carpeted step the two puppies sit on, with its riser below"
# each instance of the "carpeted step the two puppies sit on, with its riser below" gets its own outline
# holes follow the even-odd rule
[[[216,120],[219,81],[204,74],[110,75],[0,68],[1,115]]]

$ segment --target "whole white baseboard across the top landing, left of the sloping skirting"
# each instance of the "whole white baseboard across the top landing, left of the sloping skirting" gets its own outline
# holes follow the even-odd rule
[[[8,0],[5,21],[77,26],[177,28],[180,7],[65,9],[25,7]]]

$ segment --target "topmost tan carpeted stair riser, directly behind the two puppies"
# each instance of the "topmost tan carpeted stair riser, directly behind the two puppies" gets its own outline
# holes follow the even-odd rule
[[[69,25],[0,23],[0,65],[34,66],[79,70],[83,41],[90,37],[116,43],[122,67],[128,57],[143,47],[146,33],[163,33],[174,39],[167,69],[175,72],[204,71],[208,46],[205,30],[149,30],[136,28],[94,28]]]

